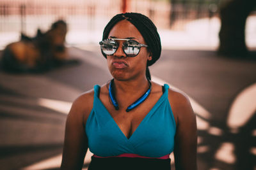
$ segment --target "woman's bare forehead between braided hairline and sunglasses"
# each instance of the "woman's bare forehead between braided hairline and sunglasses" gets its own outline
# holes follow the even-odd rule
[[[143,36],[140,34],[140,31],[127,20],[121,20],[116,23],[114,27],[109,32],[109,37],[115,36],[116,38],[130,38],[138,39],[144,42]]]

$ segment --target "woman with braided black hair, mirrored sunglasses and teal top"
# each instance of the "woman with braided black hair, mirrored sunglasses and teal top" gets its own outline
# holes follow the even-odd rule
[[[145,15],[124,13],[106,25],[100,48],[113,80],[81,94],[67,117],[61,169],[196,169],[196,120],[188,97],[150,81],[161,41]],[[134,102],[135,101],[135,102]]]

